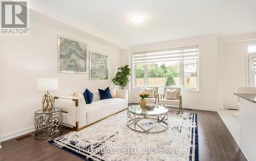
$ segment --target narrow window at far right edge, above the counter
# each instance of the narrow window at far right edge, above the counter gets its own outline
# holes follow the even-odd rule
[[[256,44],[248,45],[248,86],[256,87]]]

